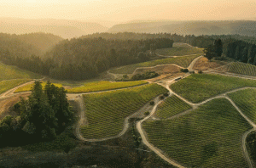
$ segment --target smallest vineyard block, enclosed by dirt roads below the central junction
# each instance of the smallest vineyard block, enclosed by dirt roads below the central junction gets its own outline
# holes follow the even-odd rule
[[[190,105],[173,95],[166,98],[165,102],[158,106],[156,116],[160,119],[166,119],[187,109],[191,109]]]

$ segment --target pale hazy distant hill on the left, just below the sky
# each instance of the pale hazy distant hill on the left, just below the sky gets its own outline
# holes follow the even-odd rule
[[[52,33],[63,38],[73,38],[95,32],[107,31],[108,28],[96,23],[77,20],[23,20],[14,18],[0,19],[0,32],[26,34],[32,32]]]

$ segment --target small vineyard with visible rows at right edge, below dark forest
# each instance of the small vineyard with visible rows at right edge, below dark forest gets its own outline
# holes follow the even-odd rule
[[[228,71],[246,76],[256,76],[256,66],[252,64],[245,64],[240,62],[231,63],[228,65]]]

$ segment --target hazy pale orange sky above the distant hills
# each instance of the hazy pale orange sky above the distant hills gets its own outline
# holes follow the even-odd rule
[[[66,20],[256,19],[256,0],[0,0],[0,17]]]

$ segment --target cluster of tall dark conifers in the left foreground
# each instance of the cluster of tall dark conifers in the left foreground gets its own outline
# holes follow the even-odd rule
[[[7,116],[0,123],[0,138],[3,140],[9,139],[9,135],[17,136],[17,132],[23,137],[32,137],[35,141],[54,139],[74,120],[66,91],[49,81],[44,90],[41,83],[35,81],[32,94],[27,100],[21,98],[14,109],[20,116]]]

